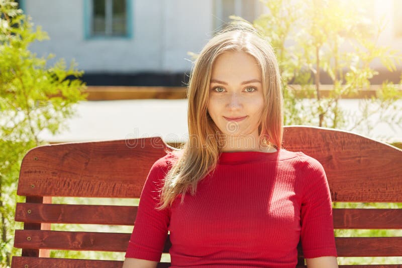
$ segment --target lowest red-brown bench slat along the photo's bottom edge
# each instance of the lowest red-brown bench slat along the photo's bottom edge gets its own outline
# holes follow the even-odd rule
[[[24,265],[29,268],[121,268],[123,261],[119,260],[92,260],[67,258],[38,258],[13,256],[11,268],[20,268]],[[159,262],[157,268],[168,268],[170,262]],[[306,268],[306,265],[297,265],[295,268]],[[402,268],[400,264],[370,264],[370,265],[339,265],[339,268]]]

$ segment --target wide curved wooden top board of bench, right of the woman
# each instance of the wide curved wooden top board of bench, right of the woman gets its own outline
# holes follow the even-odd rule
[[[396,147],[342,130],[286,126],[283,148],[323,165],[332,201],[402,202],[402,150]]]

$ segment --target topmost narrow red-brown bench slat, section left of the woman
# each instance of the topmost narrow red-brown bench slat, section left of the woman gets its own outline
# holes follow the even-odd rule
[[[15,219],[35,223],[134,225],[137,209],[135,206],[18,203]]]

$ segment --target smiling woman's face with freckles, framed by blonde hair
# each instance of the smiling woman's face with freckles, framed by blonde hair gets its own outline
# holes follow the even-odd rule
[[[208,112],[224,135],[254,137],[264,108],[261,69],[245,52],[225,52],[212,66]],[[234,119],[239,118],[240,119]]]

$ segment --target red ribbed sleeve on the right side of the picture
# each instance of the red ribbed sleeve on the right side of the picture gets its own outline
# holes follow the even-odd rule
[[[305,258],[337,257],[334,237],[331,193],[324,168],[316,159],[306,156],[304,191],[301,207],[300,239]]]

